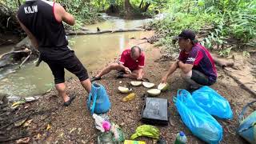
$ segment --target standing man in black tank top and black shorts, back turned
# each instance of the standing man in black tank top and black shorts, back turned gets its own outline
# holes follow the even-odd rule
[[[63,22],[73,26],[74,17],[58,3],[46,0],[26,0],[19,7],[18,21],[38,48],[42,61],[50,66],[54,75],[55,87],[64,100],[64,106],[69,106],[74,96],[66,94],[64,68],[75,74],[82,86],[90,93],[91,83],[86,68],[68,47]]]

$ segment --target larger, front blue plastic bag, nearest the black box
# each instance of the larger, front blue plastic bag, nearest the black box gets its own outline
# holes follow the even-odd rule
[[[207,143],[218,143],[222,140],[222,126],[194,102],[188,91],[178,90],[174,103],[182,121],[195,136]]]

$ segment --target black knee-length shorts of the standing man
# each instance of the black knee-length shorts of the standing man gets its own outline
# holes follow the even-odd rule
[[[65,82],[65,71],[69,70],[72,74],[75,74],[80,81],[84,81],[89,78],[87,70],[73,52],[70,52],[69,57],[62,60],[50,60],[42,58],[44,62],[48,64],[50,70],[54,75],[55,84]]]

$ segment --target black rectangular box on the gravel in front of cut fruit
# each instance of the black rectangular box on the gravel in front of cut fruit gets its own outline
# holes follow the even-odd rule
[[[142,107],[142,122],[150,125],[168,125],[170,110],[166,98],[144,99]]]

